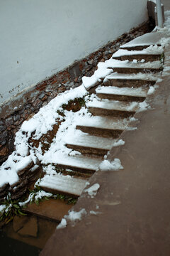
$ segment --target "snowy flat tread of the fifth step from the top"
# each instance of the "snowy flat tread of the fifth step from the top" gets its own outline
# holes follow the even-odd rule
[[[129,88],[129,87],[115,87],[115,86],[99,86],[96,88],[97,94],[110,94],[110,95],[125,95],[134,97],[147,97],[147,90],[142,87]]]

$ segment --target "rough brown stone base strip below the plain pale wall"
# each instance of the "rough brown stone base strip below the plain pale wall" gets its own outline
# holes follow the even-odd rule
[[[81,85],[81,78],[84,75],[93,75],[98,62],[108,60],[120,45],[147,33],[147,31],[149,31],[149,23],[143,23],[86,58],[74,62],[61,72],[30,87],[29,90],[21,92],[13,100],[3,105],[0,110],[0,164],[6,161],[8,155],[13,151],[15,134],[23,121],[30,119],[40,107],[47,105],[60,92]]]

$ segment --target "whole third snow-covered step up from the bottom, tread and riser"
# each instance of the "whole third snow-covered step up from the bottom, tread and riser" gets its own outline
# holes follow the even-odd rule
[[[92,136],[82,132],[79,136],[68,138],[66,146],[69,149],[80,151],[82,154],[104,156],[111,150],[114,142],[115,139]]]

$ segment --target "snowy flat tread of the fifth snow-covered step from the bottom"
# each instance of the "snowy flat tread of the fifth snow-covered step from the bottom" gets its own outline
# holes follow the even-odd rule
[[[101,108],[105,110],[119,110],[126,112],[136,112],[138,103],[137,102],[121,102],[118,100],[96,100],[86,103],[86,107]]]

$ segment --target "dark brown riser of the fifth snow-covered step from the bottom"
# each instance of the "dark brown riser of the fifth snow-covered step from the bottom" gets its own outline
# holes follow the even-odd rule
[[[102,116],[102,117],[132,117],[134,111],[120,111],[120,110],[106,110],[98,107],[89,107],[91,114]]]

